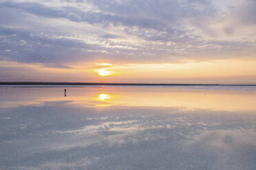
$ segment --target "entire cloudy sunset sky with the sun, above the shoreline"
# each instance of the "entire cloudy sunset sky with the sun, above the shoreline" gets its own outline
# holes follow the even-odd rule
[[[0,0],[0,82],[256,83],[254,0]]]

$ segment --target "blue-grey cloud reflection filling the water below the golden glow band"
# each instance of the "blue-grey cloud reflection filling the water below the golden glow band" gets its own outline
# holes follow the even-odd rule
[[[255,121],[253,111],[120,105],[100,110],[70,101],[5,108],[0,169],[253,170]]]

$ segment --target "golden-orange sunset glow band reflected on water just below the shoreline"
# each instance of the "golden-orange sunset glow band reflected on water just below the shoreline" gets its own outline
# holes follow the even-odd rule
[[[83,107],[150,106],[237,112],[256,110],[256,88],[211,90],[109,86],[72,87],[67,88],[67,91],[70,95],[63,97],[62,88],[0,88],[0,94],[6,94],[0,108],[43,106],[49,102],[63,101]]]

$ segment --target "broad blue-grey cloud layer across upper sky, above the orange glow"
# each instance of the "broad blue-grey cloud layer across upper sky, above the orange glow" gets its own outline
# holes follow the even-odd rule
[[[253,58],[255,40],[234,38],[226,23],[242,11],[240,21],[254,24],[254,2],[243,2],[228,15],[209,0],[2,1],[0,55],[48,66]]]

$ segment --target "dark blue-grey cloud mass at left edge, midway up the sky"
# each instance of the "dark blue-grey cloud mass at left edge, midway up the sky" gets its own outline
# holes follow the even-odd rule
[[[0,34],[5,35],[1,38],[1,47],[10,49],[9,52],[1,50],[1,55],[19,62],[61,62],[69,60],[72,52],[77,54],[88,47],[81,40],[54,38],[21,29],[0,27]]]

